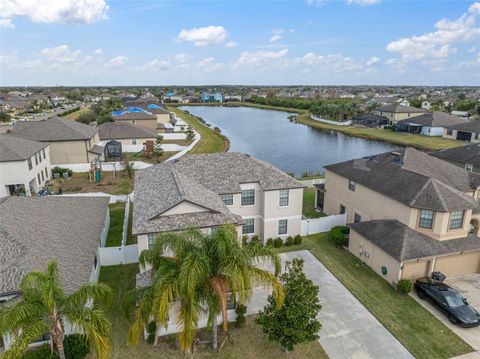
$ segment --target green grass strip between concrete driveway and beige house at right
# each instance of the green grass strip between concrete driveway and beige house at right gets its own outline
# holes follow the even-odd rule
[[[310,250],[416,358],[446,359],[473,351],[414,298],[398,294],[353,254],[336,248],[328,234],[304,237],[303,244],[280,251],[301,249]]]

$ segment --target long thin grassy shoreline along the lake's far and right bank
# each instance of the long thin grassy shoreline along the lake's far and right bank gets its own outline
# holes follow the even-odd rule
[[[445,148],[452,148],[464,145],[461,141],[448,140],[439,137],[429,137],[423,135],[414,135],[407,133],[397,133],[389,130],[382,130],[367,127],[354,126],[335,126],[326,123],[314,121],[310,118],[307,110],[277,107],[271,105],[259,105],[251,102],[227,102],[227,103],[191,103],[191,104],[174,104],[176,106],[225,106],[225,107],[253,107],[264,110],[284,111],[290,113],[297,113],[297,122],[325,131],[341,132],[347,136],[364,138],[371,141],[380,141],[390,143],[393,145],[414,147],[424,151],[438,151]]]

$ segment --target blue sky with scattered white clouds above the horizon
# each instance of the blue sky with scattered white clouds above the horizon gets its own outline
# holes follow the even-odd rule
[[[480,85],[480,2],[0,0],[0,86]]]

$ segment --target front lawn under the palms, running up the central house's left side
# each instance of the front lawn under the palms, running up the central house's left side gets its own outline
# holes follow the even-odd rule
[[[135,286],[135,274],[137,272],[137,264],[102,267],[100,272],[100,282],[108,284],[115,292],[114,303],[108,313],[112,323],[110,335],[112,352],[110,357],[115,359],[185,358],[177,349],[175,336],[162,338],[160,340],[160,347],[157,348],[156,351],[152,345],[148,345],[144,341],[141,341],[136,348],[129,347],[126,344],[129,323],[122,310],[122,296]],[[293,353],[283,352],[278,344],[269,341],[265,337],[261,328],[255,324],[252,317],[247,318],[246,325],[239,330],[232,326],[231,333],[234,344],[225,344],[223,350],[218,354],[212,353],[206,345],[199,347],[195,353],[195,358],[327,358],[327,355],[318,342],[300,345]],[[203,329],[199,331],[198,336],[202,340],[208,340],[210,333]],[[223,336],[219,333],[219,341],[221,342],[222,340]]]

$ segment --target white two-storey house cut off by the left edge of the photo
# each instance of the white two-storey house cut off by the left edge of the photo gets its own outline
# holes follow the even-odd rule
[[[37,193],[50,179],[50,146],[0,134],[0,198]]]

